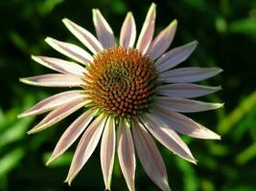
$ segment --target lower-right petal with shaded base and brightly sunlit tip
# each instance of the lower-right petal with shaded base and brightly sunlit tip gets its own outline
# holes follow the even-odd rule
[[[189,117],[163,107],[154,106],[153,115],[158,117],[167,127],[193,138],[221,139],[219,135],[198,124]]]

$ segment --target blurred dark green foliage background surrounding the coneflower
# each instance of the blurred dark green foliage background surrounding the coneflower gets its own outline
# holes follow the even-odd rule
[[[162,0],[157,4],[156,32],[173,19],[178,30],[172,47],[195,39],[198,49],[182,66],[221,67],[223,73],[203,84],[222,90],[200,100],[225,102],[217,111],[189,115],[221,135],[219,140],[186,138],[198,165],[179,159],[158,145],[174,190],[256,190],[256,1]],[[72,187],[63,183],[76,144],[54,165],[44,165],[74,114],[48,130],[28,136],[41,118],[17,119],[36,101],[60,90],[19,83],[18,78],[46,74],[31,54],[61,55],[44,42],[46,36],[80,42],[61,22],[68,17],[94,32],[91,9],[99,8],[119,35],[127,11],[133,11],[138,31],[151,5],[145,0],[0,0],[0,190],[104,190],[99,148]],[[137,160],[137,190],[158,190]],[[112,189],[127,190],[118,162]]]

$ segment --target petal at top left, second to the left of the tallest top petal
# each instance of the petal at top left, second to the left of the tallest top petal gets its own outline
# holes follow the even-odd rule
[[[95,9],[92,10],[93,13],[93,22],[97,37],[104,48],[111,48],[115,46],[115,37],[114,33],[111,30],[110,26],[106,22],[101,11]]]

